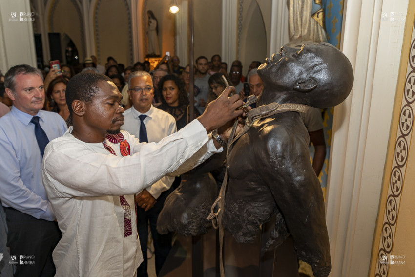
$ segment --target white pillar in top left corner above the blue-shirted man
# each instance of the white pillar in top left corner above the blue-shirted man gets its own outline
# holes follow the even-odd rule
[[[21,17],[20,12],[31,12],[29,0],[0,0],[0,68],[3,73],[17,64],[36,67],[33,23],[20,21],[31,16]]]

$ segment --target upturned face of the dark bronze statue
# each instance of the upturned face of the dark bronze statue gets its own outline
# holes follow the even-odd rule
[[[301,48],[283,46],[278,54],[266,58],[265,63],[258,67],[258,75],[265,85],[277,86],[282,91],[291,90],[293,84],[304,79],[313,66],[326,63],[324,48],[317,44]]]

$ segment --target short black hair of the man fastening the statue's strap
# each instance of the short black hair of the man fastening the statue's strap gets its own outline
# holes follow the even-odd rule
[[[81,72],[76,74],[71,80],[69,80],[66,86],[66,104],[69,108],[69,113],[72,115],[72,102],[74,100],[81,100],[83,102],[90,103],[92,98],[100,90],[98,83],[101,81],[112,80],[104,74],[95,72]]]

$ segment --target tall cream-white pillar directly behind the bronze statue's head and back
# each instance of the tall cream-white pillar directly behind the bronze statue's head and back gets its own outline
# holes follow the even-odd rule
[[[354,84],[334,109],[326,196],[333,277],[368,276],[407,7],[408,0],[345,3],[341,49]],[[383,12],[403,21],[382,21]]]

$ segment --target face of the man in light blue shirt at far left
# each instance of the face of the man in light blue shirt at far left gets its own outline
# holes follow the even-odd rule
[[[44,104],[43,80],[38,74],[19,74],[15,78],[15,91],[6,88],[13,105],[22,112],[36,115]]]

